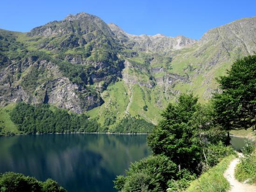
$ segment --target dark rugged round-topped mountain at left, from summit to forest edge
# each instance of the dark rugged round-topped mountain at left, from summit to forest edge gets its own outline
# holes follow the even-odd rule
[[[94,15],[69,15],[27,34],[2,30],[0,41],[1,105],[49,103],[82,113],[104,103],[100,92],[122,77],[121,45]]]

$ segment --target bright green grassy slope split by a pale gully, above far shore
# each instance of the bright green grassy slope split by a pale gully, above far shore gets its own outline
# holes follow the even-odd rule
[[[86,115],[90,118],[98,118],[98,123],[104,125],[105,119],[108,117],[116,117],[116,123],[110,125],[110,130],[125,117],[125,110],[130,102],[129,97],[132,99],[130,107],[128,109],[129,114],[132,117],[140,116],[146,121],[156,124],[160,118],[161,109],[166,107],[166,100],[163,99],[163,91],[156,86],[154,89],[148,89],[145,86],[139,86],[135,84],[130,88],[126,87],[124,81],[116,82],[110,85],[102,94],[104,104],[89,110]],[[158,101],[163,103],[162,107],[157,105]],[[147,105],[147,111],[143,109],[143,106]],[[154,111],[152,113],[152,111]],[[112,130],[113,131],[113,130]]]

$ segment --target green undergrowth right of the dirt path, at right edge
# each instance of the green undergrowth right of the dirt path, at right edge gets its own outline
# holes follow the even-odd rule
[[[235,167],[235,178],[244,182],[248,180],[249,184],[256,184],[256,148]]]

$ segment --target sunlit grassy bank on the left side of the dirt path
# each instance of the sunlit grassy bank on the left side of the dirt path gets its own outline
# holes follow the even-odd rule
[[[235,156],[231,155],[223,158],[221,162],[203,173],[198,179],[191,182],[185,192],[226,192],[230,188],[223,173],[228,168],[229,163]]]

